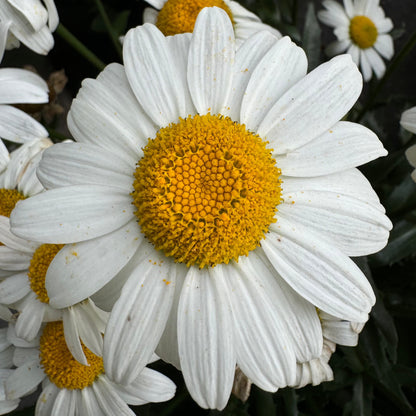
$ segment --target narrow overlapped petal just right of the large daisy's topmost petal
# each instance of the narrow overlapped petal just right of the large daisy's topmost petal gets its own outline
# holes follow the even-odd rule
[[[232,120],[240,122],[241,103],[247,84],[260,60],[275,43],[276,38],[269,32],[263,31],[248,38],[238,48],[235,54],[232,88],[228,98],[230,108],[224,113]]]

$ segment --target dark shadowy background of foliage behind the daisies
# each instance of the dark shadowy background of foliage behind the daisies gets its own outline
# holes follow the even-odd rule
[[[328,60],[326,47],[335,40],[332,29],[318,19],[323,10],[319,0],[244,0],[241,3],[265,23],[289,35],[308,56],[308,71]],[[142,23],[143,1],[55,0],[60,25],[54,33],[55,45],[47,56],[24,46],[7,51],[1,67],[30,65],[50,85],[55,94],[46,107],[25,108],[41,120],[54,142],[70,137],[66,113],[81,81],[95,78],[98,68],[121,62],[119,36]],[[387,157],[361,168],[380,197],[394,228],[388,245],[380,252],[354,258],[377,296],[370,320],[357,347],[337,347],[330,365],[334,381],[302,389],[285,388],[266,393],[252,386],[246,401],[232,396],[219,412],[201,409],[189,396],[181,373],[157,361],[149,366],[170,377],[176,395],[165,403],[133,409],[141,415],[390,415],[415,414],[416,360],[414,325],[416,317],[416,184],[405,151],[416,136],[403,129],[400,118],[416,105],[416,15],[414,0],[381,0],[394,28],[390,32],[394,55],[385,61],[386,72],[364,84],[349,120],[373,130],[388,150]],[[74,48],[74,35],[93,51]],[[98,58],[97,58],[98,57]],[[102,68],[101,68],[102,69]],[[60,71],[60,72],[57,72]],[[0,97],[1,99],[1,97]],[[9,150],[16,145],[8,143]],[[34,414],[31,398],[15,411]]]

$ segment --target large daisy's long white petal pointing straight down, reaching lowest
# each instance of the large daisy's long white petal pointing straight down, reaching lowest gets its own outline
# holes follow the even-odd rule
[[[178,342],[189,393],[201,407],[222,410],[231,394],[236,357],[231,311],[217,273],[189,269],[178,307]]]

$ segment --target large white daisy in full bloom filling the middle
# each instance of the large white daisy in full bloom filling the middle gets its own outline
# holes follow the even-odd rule
[[[52,306],[121,290],[104,339],[117,382],[159,343],[202,407],[226,405],[236,364],[264,390],[292,385],[322,353],[315,307],[367,319],[374,294],[348,256],[380,250],[392,226],[355,168],[387,152],[339,121],[356,65],[307,74],[304,51],[269,32],[236,49],[218,8],[192,34],[133,29],[123,51],[124,67],[83,82],[78,143],[44,153],[48,190],[17,204],[12,231],[76,244],[77,261],[64,247],[48,270]]]

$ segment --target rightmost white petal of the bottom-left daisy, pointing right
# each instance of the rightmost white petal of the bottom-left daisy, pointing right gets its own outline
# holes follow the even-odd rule
[[[128,404],[159,403],[171,399],[175,384],[163,374],[150,368],[143,368],[139,376],[126,386],[116,385],[120,396]]]

